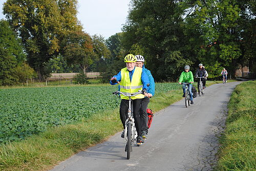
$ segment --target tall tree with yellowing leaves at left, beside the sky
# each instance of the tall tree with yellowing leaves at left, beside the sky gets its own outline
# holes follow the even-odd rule
[[[40,80],[47,75],[46,62],[61,49],[67,32],[79,30],[77,0],[7,0],[4,14],[22,38],[28,63]]]

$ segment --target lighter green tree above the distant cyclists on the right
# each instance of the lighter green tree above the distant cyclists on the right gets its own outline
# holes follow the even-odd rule
[[[186,19],[186,34],[191,37],[189,45],[196,52],[196,64],[203,63],[210,77],[218,77],[222,67],[232,73],[242,55],[237,1],[196,1],[193,8]]]

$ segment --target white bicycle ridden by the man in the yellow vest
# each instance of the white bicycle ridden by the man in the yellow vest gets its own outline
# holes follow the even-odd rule
[[[136,141],[137,138],[137,131],[135,127],[135,122],[133,118],[133,108],[132,108],[132,96],[136,96],[138,94],[143,94],[141,90],[139,90],[136,93],[131,94],[124,94],[121,91],[115,91],[113,94],[122,94],[124,96],[129,97],[129,108],[128,108],[128,118],[125,120],[125,128],[124,128],[124,143],[125,143],[125,152],[127,152],[127,159],[130,159],[132,150],[132,145],[134,144],[134,141]],[[140,146],[141,143],[137,143],[138,146]]]

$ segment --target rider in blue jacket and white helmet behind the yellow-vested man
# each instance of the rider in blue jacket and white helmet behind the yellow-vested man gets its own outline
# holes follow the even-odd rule
[[[145,97],[141,101],[141,106],[140,106],[140,118],[141,118],[141,136],[146,139],[146,135],[148,133],[147,130],[147,105],[150,103],[150,97],[152,97],[155,94],[155,81],[154,78],[151,74],[151,71],[145,68],[144,62],[145,59],[141,55],[136,55],[136,66],[141,67],[142,70],[146,73],[148,76],[148,80],[150,81],[150,86],[148,87],[148,91],[145,94]]]

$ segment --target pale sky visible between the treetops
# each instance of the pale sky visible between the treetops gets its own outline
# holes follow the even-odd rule
[[[0,0],[0,19],[4,18],[3,3]],[[98,34],[105,39],[121,32],[128,15],[130,0],[78,0],[77,18],[85,32]]]

